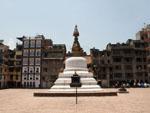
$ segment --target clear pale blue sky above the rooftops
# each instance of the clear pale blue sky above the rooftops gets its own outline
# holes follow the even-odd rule
[[[135,39],[144,23],[150,24],[150,0],[0,0],[0,40],[11,49],[16,37],[43,34],[70,51],[78,25],[88,53]]]

